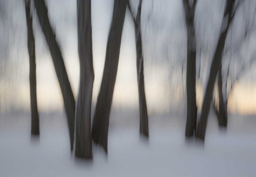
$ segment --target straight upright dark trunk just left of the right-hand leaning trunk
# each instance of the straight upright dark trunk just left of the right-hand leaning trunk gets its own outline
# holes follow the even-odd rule
[[[196,131],[196,36],[194,30],[194,12],[197,0],[190,5],[183,0],[187,23],[187,124],[185,136],[190,137]]]

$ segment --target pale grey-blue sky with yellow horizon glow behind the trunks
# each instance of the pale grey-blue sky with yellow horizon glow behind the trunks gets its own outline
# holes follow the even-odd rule
[[[138,0],[132,0],[132,14],[126,9],[121,51],[119,56],[118,74],[116,77],[115,91],[113,95],[113,108],[138,109],[138,86],[136,72],[135,32],[132,15],[137,13]],[[1,111],[10,108],[30,109],[29,99],[29,58],[27,54],[27,34],[24,2],[21,0],[0,0],[1,7],[1,70],[4,71],[0,79]],[[208,3],[208,4],[207,4]],[[221,3],[218,0],[201,0],[198,2],[196,28],[199,44],[208,52],[201,59],[205,73],[208,67],[218,36],[218,26],[221,20]],[[79,58],[77,52],[77,23],[76,0],[46,0],[49,19],[55,30],[57,41],[60,44],[65,60],[69,80],[73,92],[77,95],[79,86]],[[208,6],[207,6],[208,5]],[[207,15],[200,18],[204,13]],[[216,11],[217,10],[217,11]],[[216,11],[216,12],[215,12]],[[93,105],[101,84],[104,68],[105,50],[107,46],[108,32],[113,12],[113,0],[92,0],[92,29],[93,29]],[[40,111],[63,110],[63,100],[52,64],[48,46],[38,23],[35,10],[32,9],[33,27],[37,60],[37,96]],[[211,24],[205,24],[211,18]],[[199,20],[201,19],[201,20]],[[204,28],[202,28],[202,26]],[[202,29],[204,33],[201,32]],[[6,33],[9,35],[6,35]],[[179,0],[144,0],[141,10],[141,33],[143,40],[144,70],[146,99],[149,113],[166,113],[170,109],[185,109],[185,69],[186,69],[186,28],[183,14],[182,1]],[[210,35],[209,35],[210,34]],[[204,35],[209,36],[205,38]],[[205,40],[204,40],[205,39]],[[250,44],[254,46],[254,44]],[[251,49],[252,50],[252,49]],[[6,53],[6,54],[5,54]],[[201,57],[202,58],[202,57]],[[255,65],[244,74],[249,81],[235,85],[229,99],[231,113],[255,114],[256,91],[254,78]],[[204,73],[204,72],[202,72]],[[207,75],[207,74],[205,74]],[[202,103],[202,95],[206,76],[201,76],[197,83],[197,103]],[[12,105],[12,106],[11,106]]]

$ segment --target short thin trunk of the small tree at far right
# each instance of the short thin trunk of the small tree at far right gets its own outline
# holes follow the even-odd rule
[[[218,74],[218,92],[219,92],[219,114],[218,114],[218,122],[220,127],[227,127],[227,106],[223,99],[222,94],[222,66],[219,68]]]

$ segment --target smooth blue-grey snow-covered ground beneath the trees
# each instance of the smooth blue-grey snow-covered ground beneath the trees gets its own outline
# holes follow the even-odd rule
[[[108,156],[94,147],[91,162],[71,154],[64,115],[41,116],[39,140],[30,138],[29,114],[0,116],[3,177],[256,176],[255,116],[229,116],[227,131],[210,116],[204,145],[185,141],[180,117],[151,118],[149,141],[138,136],[138,122],[127,127],[112,122]]]

